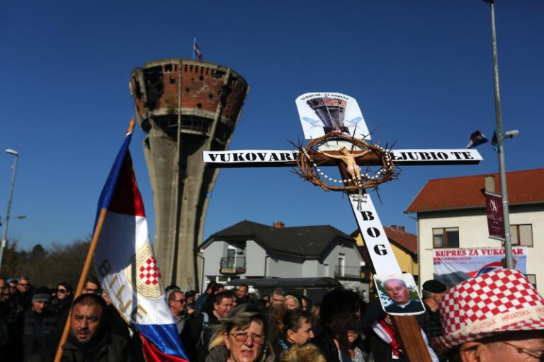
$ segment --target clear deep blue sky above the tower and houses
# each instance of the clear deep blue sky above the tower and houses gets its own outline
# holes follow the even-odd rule
[[[509,170],[541,168],[544,3],[497,1]],[[251,90],[231,149],[288,149],[302,139],[295,98],[331,91],[358,100],[373,139],[395,148],[462,148],[495,124],[489,4],[472,1],[4,1],[0,5],[0,148],[21,153],[8,238],[23,249],[91,233],[96,202],[133,113],[130,72],[155,59],[230,66]],[[153,202],[137,129],[131,151],[147,216]],[[382,223],[403,214],[430,178],[497,172],[497,155],[471,166],[404,167],[373,197]],[[13,157],[0,153],[0,215]],[[336,171],[331,170],[334,174]],[[205,236],[244,219],[287,226],[356,222],[339,193],[288,168],[220,171]]]

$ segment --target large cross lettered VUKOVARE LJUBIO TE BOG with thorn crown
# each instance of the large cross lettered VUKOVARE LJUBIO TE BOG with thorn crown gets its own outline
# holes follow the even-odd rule
[[[313,102],[314,99],[319,102]],[[217,167],[296,167],[298,175],[322,187],[324,191],[349,194],[351,209],[376,274],[401,274],[370,194],[364,190],[377,188],[380,183],[395,179],[398,175],[395,165],[475,164],[482,160],[480,153],[465,148],[392,150],[370,144],[370,134],[356,100],[341,93],[305,93],[297,98],[296,104],[305,138],[310,139],[305,146],[299,146],[295,151],[205,151],[204,161]],[[329,110],[329,105],[336,107],[333,109],[336,112]],[[326,133],[324,127],[319,127],[317,122],[310,125],[308,119],[315,117],[316,113],[320,119],[334,117],[334,123],[344,124],[349,133]],[[344,121],[344,117],[351,121]],[[353,151],[348,151],[346,145],[351,145]],[[337,160],[342,162],[338,163]],[[322,170],[322,167],[330,165],[339,167],[339,180]],[[366,167],[364,173],[361,172],[362,165]],[[431,358],[415,317],[393,315],[392,320],[398,329],[408,360],[430,362]]]

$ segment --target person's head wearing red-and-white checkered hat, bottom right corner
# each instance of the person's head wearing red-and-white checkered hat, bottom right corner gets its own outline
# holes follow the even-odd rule
[[[450,288],[440,305],[449,361],[542,361],[544,298],[517,270],[490,271]]]

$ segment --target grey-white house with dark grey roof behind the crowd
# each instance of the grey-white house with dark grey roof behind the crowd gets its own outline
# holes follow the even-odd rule
[[[355,240],[329,225],[267,226],[244,220],[211,235],[198,252],[204,260],[202,290],[212,280],[330,277],[368,293]]]

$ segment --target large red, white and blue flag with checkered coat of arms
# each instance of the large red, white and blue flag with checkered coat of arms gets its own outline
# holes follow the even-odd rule
[[[113,305],[140,331],[146,361],[188,362],[166,302],[128,146],[131,127],[98,200],[94,260]]]

